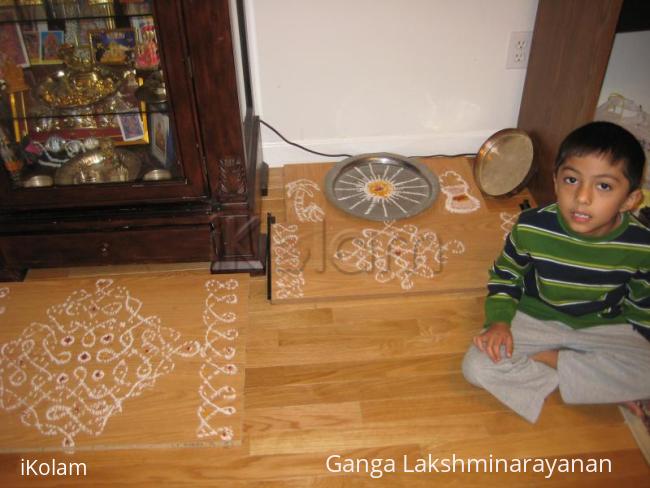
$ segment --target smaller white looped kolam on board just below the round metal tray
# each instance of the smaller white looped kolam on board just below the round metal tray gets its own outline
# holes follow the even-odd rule
[[[334,259],[350,265],[350,271],[374,273],[379,283],[397,280],[403,290],[410,290],[415,278],[428,280],[441,273],[449,254],[465,252],[465,245],[458,240],[441,244],[433,231],[394,224],[389,221],[382,229],[363,229],[334,253]]]

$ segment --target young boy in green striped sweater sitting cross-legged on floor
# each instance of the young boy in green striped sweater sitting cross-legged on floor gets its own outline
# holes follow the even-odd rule
[[[625,403],[648,425],[650,229],[630,214],[644,162],[616,124],[573,131],[557,202],[520,215],[490,270],[463,374],[530,422],[559,386],[566,403]]]

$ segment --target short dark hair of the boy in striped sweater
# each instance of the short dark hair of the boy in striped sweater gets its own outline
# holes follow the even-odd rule
[[[571,132],[555,159],[555,173],[571,157],[598,154],[607,156],[611,164],[623,163],[623,174],[630,182],[630,191],[641,186],[645,153],[639,141],[620,125],[611,122],[590,122]]]

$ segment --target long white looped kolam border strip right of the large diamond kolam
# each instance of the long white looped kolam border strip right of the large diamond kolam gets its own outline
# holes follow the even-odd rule
[[[216,437],[223,442],[230,442],[234,438],[232,426],[214,424],[220,422],[223,416],[237,412],[231,405],[237,398],[236,389],[222,384],[223,375],[231,376],[238,371],[233,363],[237,355],[233,344],[239,337],[239,332],[230,325],[237,320],[237,314],[227,310],[228,305],[237,304],[237,295],[233,293],[237,288],[239,282],[235,279],[225,282],[209,280],[205,284],[208,296],[203,312],[203,324],[206,327],[201,346],[203,364],[199,370],[201,404],[197,409],[199,425],[196,429],[199,438]]]

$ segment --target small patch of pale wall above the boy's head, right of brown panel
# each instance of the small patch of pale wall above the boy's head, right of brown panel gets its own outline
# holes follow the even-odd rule
[[[650,31],[616,34],[598,105],[611,93],[634,100],[650,113]]]

